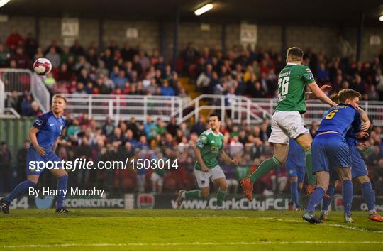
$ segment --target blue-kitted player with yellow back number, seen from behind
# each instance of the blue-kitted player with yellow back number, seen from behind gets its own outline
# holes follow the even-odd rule
[[[303,219],[310,223],[321,223],[314,213],[315,207],[328,189],[330,175],[336,172],[342,180],[342,196],[345,208],[345,222],[351,222],[353,183],[351,181],[350,148],[345,141],[345,133],[353,128],[356,138],[367,136],[360,132],[360,113],[357,111],[361,95],[352,89],[343,89],[338,94],[340,104],[333,106],[323,116],[316,137],[313,140],[313,173],[317,187],[310,197]]]

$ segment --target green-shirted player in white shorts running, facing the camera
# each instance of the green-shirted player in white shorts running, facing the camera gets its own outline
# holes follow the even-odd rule
[[[201,199],[209,196],[210,180],[218,185],[217,191],[217,210],[223,209],[222,203],[226,196],[228,184],[225,174],[218,164],[218,157],[226,163],[238,165],[238,160],[231,159],[223,150],[223,134],[219,132],[221,128],[221,118],[218,114],[209,116],[210,128],[198,138],[194,153],[196,154],[196,164],[194,165],[194,175],[199,189],[185,191],[180,190],[177,197],[177,205],[181,207],[184,199]]]

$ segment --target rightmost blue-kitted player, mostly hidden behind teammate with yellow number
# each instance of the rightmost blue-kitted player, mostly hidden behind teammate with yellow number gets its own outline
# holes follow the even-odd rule
[[[360,111],[362,110],[360,109]],[[362,111],[361,115],[361,119],[364,122],[363,124],[365,124],[367,128],[369,128],[370,120],[368,119],[368,116],[365,113],[365,111]],[[353,180],[357,180],[358,184],[362,189],[363,199],[365,200],[369,211],[369,219],[372,221],[383,222],[383,218],[380,216],[380,214],[377,213],[377,210],[375,209],[375,192],[372,189],[371,181],[368,177],[368,171],[365,164],[365,160],[363,160],[362,156],[359,153],[359,150],[366,150],[369,146],[365,143],[358,143],[357,138],[355,136],[356,132],[354,132],[352,128],[348,130],[345,136],[345,140],[348,143],[351,154],[351,175],[353,177]],[[331,199],[333,199],[334,190],[336,185],[338,184],[338,179],[338,175],[336,174],[330,177],[330,185],[328,185],[327,194],[331,198],[323,200],[321,217],[319,218],[323,221],[327,220],[328,207],[331,204]]]

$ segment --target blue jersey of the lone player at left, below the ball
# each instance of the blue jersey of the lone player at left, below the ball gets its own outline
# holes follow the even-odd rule
[[[53,143],[55,143],[65,127],[65,119],[62,116],[57,118],[52,111],[48,111],[38,116],[38,119],[33,123],[33,127],[40,130],[37,133],[39,146],[45,148],[45,151],[52,151]]]

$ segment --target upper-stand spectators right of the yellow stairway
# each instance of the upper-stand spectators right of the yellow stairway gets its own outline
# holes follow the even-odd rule
[[[349,50],[349,43],[341,37],[340,41],[343,42],[339,42],[335,57],[307,48],[303,65],[311,68],[320,86],[331,85],[332,92],[350,88],[360,92],[365,100],[383,101],[383,50],[372,62],[355,62],[344,52]],[[199,51],[189,43],[182,52],[182,67],[206,94],[276,98],[278,73],[286,65],[284,58],[273,50],[254,50],[251,45],[234,45],[223,54],[218,47]]]

